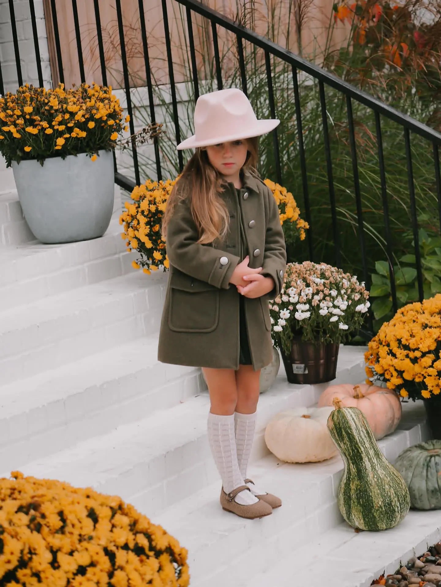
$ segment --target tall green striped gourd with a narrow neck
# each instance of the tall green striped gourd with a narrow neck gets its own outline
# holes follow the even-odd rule
[[[379,450],[364,414],[340,400],[334,407],[327,425],[345,467],[337,495],[341,515],[353,528],[393,528],[411,505],[405,481]]]

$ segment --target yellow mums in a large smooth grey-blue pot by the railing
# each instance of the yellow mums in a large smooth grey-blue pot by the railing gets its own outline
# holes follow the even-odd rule
[[[25,85],[0,97],[0,153],[41,242],[82,241],[107,230],[122,118],[111,87],[96,84],[69,90]]]

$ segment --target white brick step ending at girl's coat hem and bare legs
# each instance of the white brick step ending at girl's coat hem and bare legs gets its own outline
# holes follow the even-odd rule
[[[157,360],[147,336],[0,387],[0,471],[71,448],[199,393],[199,369]]]

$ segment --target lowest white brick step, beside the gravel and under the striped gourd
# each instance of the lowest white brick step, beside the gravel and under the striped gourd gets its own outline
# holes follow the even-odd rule
[[[290,556],[275,559],[266,572],[253,576],[244,587],[292,587],[293,568],[298,585],[323,576],[327,587],[369,587],[372,579],[382,573],[393,574],[440,537],[441,510],[411,510],[401,524],[384,532],[357,534],[343,523],[293,550]]]

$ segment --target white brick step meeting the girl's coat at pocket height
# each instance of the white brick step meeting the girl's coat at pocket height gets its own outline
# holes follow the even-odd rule
[[[0,313],[2,382],[155,332],[164,290],[165,276],[137,272]]]

